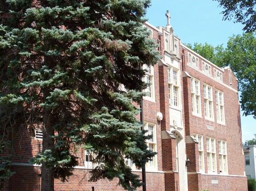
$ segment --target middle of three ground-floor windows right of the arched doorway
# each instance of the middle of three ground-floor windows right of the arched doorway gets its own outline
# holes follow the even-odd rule
[[[207,147],[207,169],[208,169],[208,172],[217,172],[217,170],[216,170],[215,138],[206,138],[206,147]]]

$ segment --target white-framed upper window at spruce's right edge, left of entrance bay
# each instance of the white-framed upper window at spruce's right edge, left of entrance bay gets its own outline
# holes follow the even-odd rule
[[[150,68],[150,71],[147,68]],[[148,83],[148,79],[151,81],[151,85],[149,85],[144,92],[147,92],[147,96],[143,96],[143,99],[146,99],[151,102],[155,102],[155,81],[154,81],[154,66],[143,64],[143,69],[146,70],[146,74],[143,78],[143,81]]]

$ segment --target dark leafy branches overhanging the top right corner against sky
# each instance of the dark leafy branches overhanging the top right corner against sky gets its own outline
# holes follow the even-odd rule
[[[256,1],[255,0],[216,0],[224,8],[224,20],[241,22],[246,32],[255,32],[256,30]]]

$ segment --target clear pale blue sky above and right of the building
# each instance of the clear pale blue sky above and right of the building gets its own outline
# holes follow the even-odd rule
[[[233,34],[242,34],[243,25],[222,21],[222,8],[213,0],[151,0],[146,18],[154,26],[165,26],[165,12],[169,10],[171,25],[183,43],[208,42],[226,46]],[[254,138],[256,119],[241,112],[243,142]]]

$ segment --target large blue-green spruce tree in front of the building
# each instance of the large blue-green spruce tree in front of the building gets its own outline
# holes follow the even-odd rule
[[[94,153],[92,181],[118,178],[127,190],[140,186],[124,158],[140,168],[155,154],[132,104],[147,85],[142,64],[159,59],[143,27],[149,4],[0,1],[0,146],[8,147],[21,125],[43,129],[42,153],[31,160],[42,164],[42,191],[72,174],[79,147]]]

